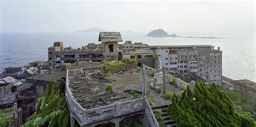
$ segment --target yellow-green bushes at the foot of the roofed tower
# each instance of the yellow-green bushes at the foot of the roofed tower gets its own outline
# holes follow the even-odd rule
[[[137,64],[137,60],[136,59],[128,60],[126,58],[122,58],[121,61],[115,61],[115,62],[106,61],[104,63],[104,67],[105,67],[105,70],[119,72],[120,70],[122,70],[123,65],[129,64],[129,63]]]

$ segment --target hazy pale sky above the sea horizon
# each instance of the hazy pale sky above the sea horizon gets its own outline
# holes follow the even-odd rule
[[[1,32],[253,31],[254,2],[1,1]]]

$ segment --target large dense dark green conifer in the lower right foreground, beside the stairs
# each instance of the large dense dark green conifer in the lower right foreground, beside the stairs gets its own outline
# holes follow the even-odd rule
[[[190,87],[181,95],[173,95],[167,114],[177,126],[254,126],[249,114],[235,112],[230,99],[215,84],[207,87],[196,82],[195,92]]]

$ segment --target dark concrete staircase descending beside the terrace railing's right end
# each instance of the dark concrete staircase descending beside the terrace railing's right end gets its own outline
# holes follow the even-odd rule
[[[170,119],[170,117],[167,115],[167,108],[168,105],[161,105],[157,107],[151,107],[153,112],[156,112],[156,110],[160,109],[162,111],[161,116],[164,117],[164,123],[166,127],[176,126],[176,122]]]

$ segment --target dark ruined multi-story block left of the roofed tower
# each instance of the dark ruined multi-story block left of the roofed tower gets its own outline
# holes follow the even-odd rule
[[[59,68],[62,63],[80,61],[102,61],[103,50],[101,44],[90,43],[82,48],[63,47],[62,42],[56,42],[48,48],[48,61],[53,68]]]

